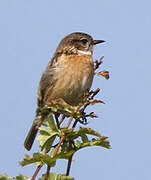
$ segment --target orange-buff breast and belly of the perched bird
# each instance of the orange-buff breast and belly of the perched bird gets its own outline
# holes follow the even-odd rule
[[[55,83],[47,93],[47,101],[62,98],[78,105],[93,81],[93,61],[90,55],[62,55],[55,71]]]

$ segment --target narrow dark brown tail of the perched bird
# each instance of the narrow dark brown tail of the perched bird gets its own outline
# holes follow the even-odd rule
[[[41,117],[40,116],[37,116],[27,134],[27,137],[25,139],[25,142],[24,142],[24,147],[30,151],[33,143],[34,143],[34,140],[36,138],[36,135],[37,135],[37,132],[38,132],[38,129],[41,125]]]

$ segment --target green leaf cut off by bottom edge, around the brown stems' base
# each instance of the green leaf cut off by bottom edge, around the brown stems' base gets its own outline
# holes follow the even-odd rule
[[[45,180],[45,175],[43,175],[39,180]],[[47,180],[74,180],[74,178],[63,174],[50,173]]]

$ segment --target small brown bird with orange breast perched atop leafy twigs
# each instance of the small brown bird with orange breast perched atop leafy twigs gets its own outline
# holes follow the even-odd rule
[[[60,41],[39,82],[36,115],[24,142],[28,151],[44,121],[41,112],[46,104],[61,98],[77,106],[90,90],[94,77],[93,48],[103,42],[83,32],[71,33]]]

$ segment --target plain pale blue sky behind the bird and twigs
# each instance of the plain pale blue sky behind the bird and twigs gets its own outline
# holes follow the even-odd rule
[[[112,150],[78,152],[71,169],[76,180],[151,179],[151,1],[0,0],[0,174],[31,176],[20,167],[26,133],[34,119],[40,76],[58,42],[82,31],[106,40],[94,51],[105,56],[110,80],[93,88],[106,105],[88,126],[109,136]],[[93,110],[94,110],[93,109]],[[35,143],[32,152],[37,151]],[[64,172],[66,162],[58,163]]]

